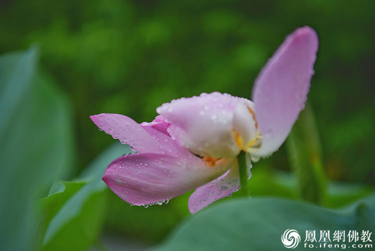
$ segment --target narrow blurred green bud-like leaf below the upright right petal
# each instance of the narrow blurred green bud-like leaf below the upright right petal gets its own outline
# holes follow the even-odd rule
[[[290,165],[298,177],[300,196],[304,200],[321,204],[326,193],[326,177],[321,161],[319,134],[308,103],[293,126],[286,147]]]

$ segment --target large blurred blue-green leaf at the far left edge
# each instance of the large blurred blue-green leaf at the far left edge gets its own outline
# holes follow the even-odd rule
[[[36,74],[37,54],[31,48],[0,57],[1,250],[32,248],[34,200],[72,166],[69,106],[49,78]]]

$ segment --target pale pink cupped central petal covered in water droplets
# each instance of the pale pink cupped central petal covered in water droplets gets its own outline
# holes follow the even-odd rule
[[[233,116],[241,100],[229,94],[203,93],[165,103],[156,112],[170,123],[171,137],[190,151],[230,158],[240,150],[234,140]]]

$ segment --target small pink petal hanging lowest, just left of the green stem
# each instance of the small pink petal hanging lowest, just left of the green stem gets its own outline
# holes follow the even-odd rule
[[[196,213],[218,199],[229,196],[240,187],[237,161],[225,174],[198,187],[189,197],[190,213]]]

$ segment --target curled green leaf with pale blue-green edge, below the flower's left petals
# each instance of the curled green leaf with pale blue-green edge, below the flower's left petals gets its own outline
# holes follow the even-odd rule
[[[87,166],[77,181],[55,181],[50,195],[40,200],[44,209],[39,229],[42,250],[83,250],[96,240],[106,204],[106,185],[101,176],[111,161],[130,152],[128,146],[113,144]]]

